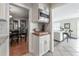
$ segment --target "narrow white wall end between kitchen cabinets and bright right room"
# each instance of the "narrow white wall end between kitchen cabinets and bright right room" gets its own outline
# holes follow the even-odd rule
[[[53,22],[53,18],[54,18],[54,10],[51,9],[50,6],[50,33],[51,33],[51,40],[50,40],[50,49],[52,52],[54,52],[54,22]]]

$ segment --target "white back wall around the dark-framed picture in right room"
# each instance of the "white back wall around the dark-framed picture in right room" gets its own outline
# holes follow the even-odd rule
[[[77,21],[76,19],[67,19],[60,22],[60,26],[64,28],[64,23],[70,23],[70,29],[73,31],[72,36],[77,37]]]

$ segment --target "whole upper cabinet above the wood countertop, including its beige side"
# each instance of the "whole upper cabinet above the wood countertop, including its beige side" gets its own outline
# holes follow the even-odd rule
[[[35,22],[49,22],[49,4],[33,4],[32,8],[33,21]]]

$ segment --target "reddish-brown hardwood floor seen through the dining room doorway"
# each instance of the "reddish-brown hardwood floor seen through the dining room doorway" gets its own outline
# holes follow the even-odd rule
[[[25,42],[24,39],[22,39],[19,44],[14,42],[10,46],[10,56],[22,56],[24,54],[29,53],[28,48],[28,40]]]

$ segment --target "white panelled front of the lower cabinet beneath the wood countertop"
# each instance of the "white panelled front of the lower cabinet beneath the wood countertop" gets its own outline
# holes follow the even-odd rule
[[[50,35],[45,35],[40,37],[40,43],[39,43],[39,53],[40,55],[43,55],[49,50],[49,41],[50,41]]]

